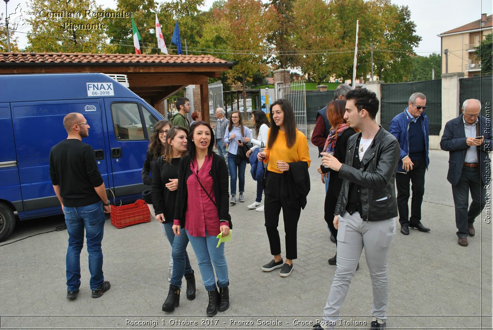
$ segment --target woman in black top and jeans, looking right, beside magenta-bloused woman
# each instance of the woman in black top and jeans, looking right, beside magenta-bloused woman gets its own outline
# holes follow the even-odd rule
[[[186,154],[187,131],[183,126],[174,126],[167,135],[165,155],[159,157],[152,170],[152,201],[156,212],[156,220],[164,225],[166,237],[172,246],[173,274],[170,281],[168,297],[162,310],[171,312],[179,305],[181,279],[183,275],[187,283],[186,297],[195,299],[195,276],[186,252],[188,237],[182,233],[175,236],[173,220],[177,192],[178,168],[181,157]]]

